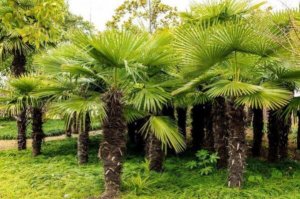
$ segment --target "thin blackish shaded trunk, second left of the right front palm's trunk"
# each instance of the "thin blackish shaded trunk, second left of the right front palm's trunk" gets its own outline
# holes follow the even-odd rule
[[[204,104],[204,146],[203,148],[214,152],[214,135],[212,132],[212,103],[208,102]]]

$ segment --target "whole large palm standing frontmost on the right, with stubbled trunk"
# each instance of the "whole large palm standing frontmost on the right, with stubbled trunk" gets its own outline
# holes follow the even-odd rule
[[[271,83],[258,85],[255,81],[260,74],[254,69],[275,56],[280,48],[264,34],[266,27],[256,23],[250,18],[213,26],[191,25],[178,31],[175,42],[185,77],[190,79],[187,88],[201,85],[207,70],[222,71],[206,87],[206,93],[210,98],[224,97],[228,103],[229,187],[241,187],[243,182],[246,159],[244,106],[277,109],[286,105],[291,96],[282,87],[277,88]],[[274,33],[273,38],[276,37],[279,39],[280,35]]]

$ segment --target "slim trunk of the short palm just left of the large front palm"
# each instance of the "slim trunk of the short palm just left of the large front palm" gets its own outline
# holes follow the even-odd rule
[[[85,124],[81,127],[77,143],[77,156],[79,164],[86,164],[89,161],[89,131],[91,130],[91,119],[87,113]]]

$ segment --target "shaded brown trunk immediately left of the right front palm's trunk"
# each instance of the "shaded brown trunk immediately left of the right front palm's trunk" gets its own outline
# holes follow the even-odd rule
[[[217,167],[219,169],[227,167],[228,161],[228,118],[226,117],[226,101],[222,97],[216,98],[212,109],[214,148],[219,159]]]

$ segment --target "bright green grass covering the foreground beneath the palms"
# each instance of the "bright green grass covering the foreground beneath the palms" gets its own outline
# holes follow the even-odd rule
[[[30,150],[0,152],[0,198],[84,199],[103,191],[103,168],[97,158],[99,137],[90,147],[90,163],[78,166],[76,140],[44,144],[43,155]],[[122,198],[125,199],[297,199],[300,198],[300,165],[268,164],[250,159],[242,190],[226,187],[226,170],[201,176],[185,169],[190,157],[169,157],[161,174],[145,170],[143,156],[128,153],[124,166]]]

